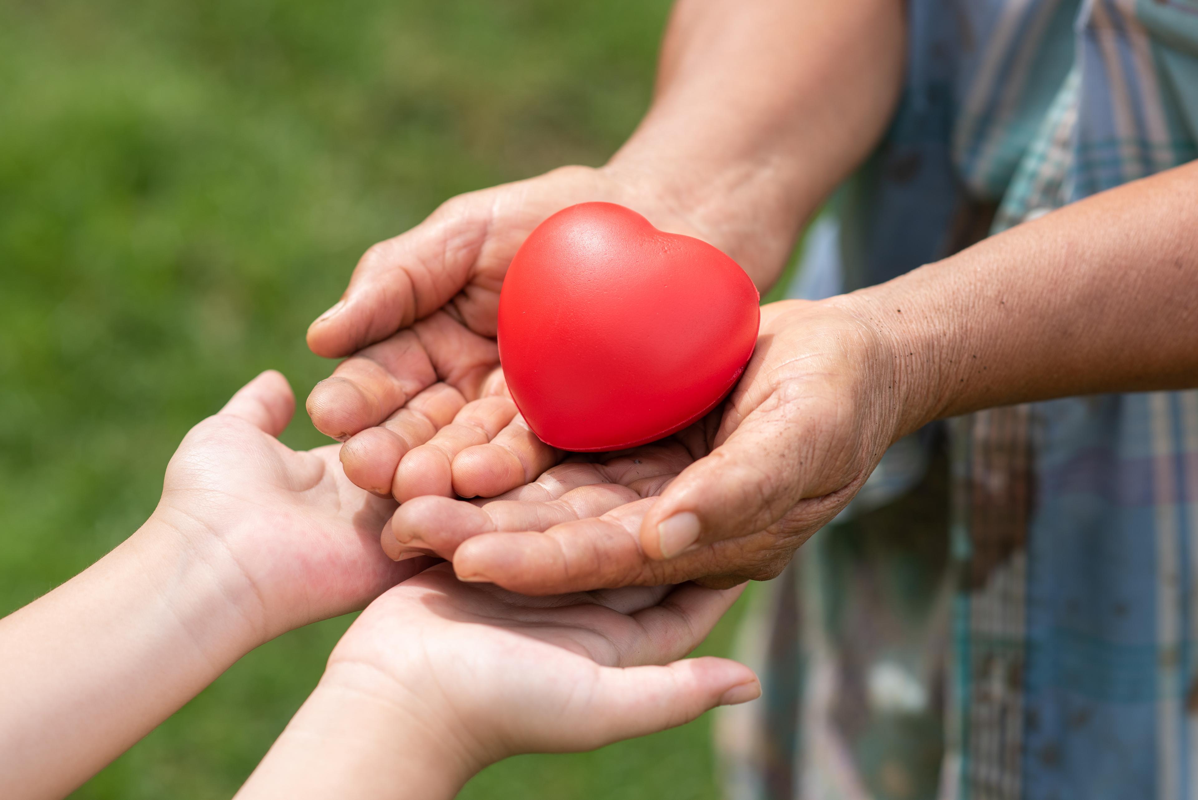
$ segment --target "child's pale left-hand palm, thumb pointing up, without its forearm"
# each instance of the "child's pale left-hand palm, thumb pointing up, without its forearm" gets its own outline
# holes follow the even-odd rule
[[[212,570],[259,640],[359,609],[430,563],[379,551],[395,504],[353,486],[335,445],[297,452],[276,438],[294,410],[278,372],[242,387],[184,437],[152,517]]]

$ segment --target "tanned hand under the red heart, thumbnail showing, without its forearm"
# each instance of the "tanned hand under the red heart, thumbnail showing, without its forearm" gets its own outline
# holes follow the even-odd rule
[[[774,577],[904,432],[889,342],[846,305],[764,306],[744,377],[700,425],[623,453],[573,456],[525,486],[512,464],[553,453],[501,429],[452,459],[452,482],[508,493],[416,498],[383,547],[435,553],[464,579],[530,594]]]

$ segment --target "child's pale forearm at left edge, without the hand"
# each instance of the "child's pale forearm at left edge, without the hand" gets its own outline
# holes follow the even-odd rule
[[[235,585],[150,522],[0,620],[0,796],[66,795],[253,648]]]

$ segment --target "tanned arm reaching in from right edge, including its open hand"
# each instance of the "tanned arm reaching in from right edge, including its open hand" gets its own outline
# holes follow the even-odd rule
[[[1198,163],[878,287],[764,306],[719,420],[595,474],[551,470],[547,501],[538,487],[483,505],[413,500],[392,519],[392,549],[525,593],[770,578],[927,421],[1198,386],[1196,197]]]

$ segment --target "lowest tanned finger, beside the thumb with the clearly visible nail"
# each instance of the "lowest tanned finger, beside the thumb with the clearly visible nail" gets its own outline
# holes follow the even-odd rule
[[[544,533],[483,534],[454,553],[461,581],[495,583],[520,594],[557,595],[630,584],[662,584],[665,571],[641,553],[636,533],[655,499]]]

